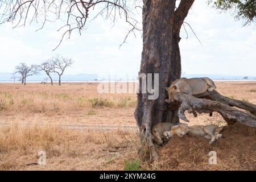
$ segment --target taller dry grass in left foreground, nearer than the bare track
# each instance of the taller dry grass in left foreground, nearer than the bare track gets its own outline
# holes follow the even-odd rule
[[[85,132],[14,122],[0,130],[0,170],[118,170],[130,160],[127,154],[136,156],[137,140],[121,129]],[[46,152],[46,165],[38,164],[39,151]]]

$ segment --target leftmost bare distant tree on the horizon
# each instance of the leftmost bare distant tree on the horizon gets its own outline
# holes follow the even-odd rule
[[[28,76],[33,76],[38,74],[38,69],[36,65],[28,66],[26,63],[20,63],[15,67],[15,74],[20,74],[22,84],[26,85],[26,79]]]

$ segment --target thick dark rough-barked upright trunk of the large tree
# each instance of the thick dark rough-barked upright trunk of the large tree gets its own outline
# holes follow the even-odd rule
[[[152,80],[154,73],[159,74],[159,97],[156,100],[148,100],[150,94],[142,93],[140,84],[134,115],[141,137],[146,141],[151,160],[158,158],[152,143],[151,126],[163,121],[179,122],[177,109],[167,110],[165,88],[180,78],[179,32],[193,0],[182,0],[176,11],[175,2],[143,1],[143,51],[139,74],[152,73]],[[152,83],[154,84],[155,82]]]

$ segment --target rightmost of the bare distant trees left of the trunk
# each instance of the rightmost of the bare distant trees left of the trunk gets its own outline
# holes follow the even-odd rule
[[[53,72],[59,75],[59,86],[61,85],[61,76],[63,75],[65,69],[71,67],[73,60],[67,57],[55,56],[51,60],[53,67]]]

